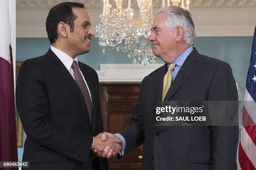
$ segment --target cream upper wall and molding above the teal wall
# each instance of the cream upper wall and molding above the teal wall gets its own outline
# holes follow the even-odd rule
[[[45,20],[49,9],[65,0],[16,0],[16,37],[47,37]],[[84,3],[92,28],[100,23],[102,0],[75,0]],[[110,0],[113,4],[114,0]],[[135,2],[135,0],[132,0]],[[153,0],[154,7],[161,0]],[[133,3],[133,7],[136,4]],[[154,9],[154,11],[156,11]],[[255,0],[191,0],[190,13],[197,36],[253,36],[256,24]],[[134,10],[138,18],[138,9]]]

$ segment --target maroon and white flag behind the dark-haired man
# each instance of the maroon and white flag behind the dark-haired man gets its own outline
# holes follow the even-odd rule
[[[0,31],[0,161],[18,161],[8,0],[0,1],[0,23],[2,25]],[[0,167],[0,170],[18,170],[18,168]]]

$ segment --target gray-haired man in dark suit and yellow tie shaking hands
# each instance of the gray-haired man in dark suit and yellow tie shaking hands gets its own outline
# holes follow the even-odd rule
[[[237,126],[154,126],[152,121],[154,101],[237,101],[230,66],[192,47],[195,27],[183,8],[159,9],[151,31],[153,53],[165,64],[143,79],[127,127],[115,136],[104,132],[101,140],[118,136],[120,156],[144,143],[143,170],[235,170]]]

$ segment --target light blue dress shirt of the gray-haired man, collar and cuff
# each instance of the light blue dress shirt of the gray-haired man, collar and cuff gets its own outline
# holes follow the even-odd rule
[[[189,56],[189,54],[192,51],[193,51],[193,47],[190,46],[185,51],[183,51],[183,53],[181,53],[178,56],[178,58],[173,62],[176,65],[175,65],[174,69],[172,70],[172,81],[174,81],[175,77],[179,73],[180,68],[182,67],[183,63],[187,59],[187,56]],[[167,68],[168,67],[169,67],[169,64],[167,64]],[[123,135],[121,135],[119,133],[116,133],[115,135],[118,136],[120,138],[120,140],[123,142],[122,150],[119,152],[119,155],[123,156],[124,155],[124,151],[125,151],[125,146],[126,146],[125,138],[123,137]]]

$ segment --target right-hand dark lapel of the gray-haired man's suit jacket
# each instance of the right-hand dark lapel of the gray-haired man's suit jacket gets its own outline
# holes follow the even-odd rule
[[[183,63],[179,73],[171,84],[169,91],[167,92],[164,100],[170,100],[174,93],[179,89],[182,83],[187,79],[187,77],[192,74],[192,72],[196,69],[195,61],[198,60],[199,53],[194,48],[194,50],[189,54],[185,62]]]

